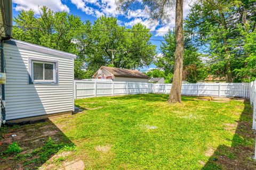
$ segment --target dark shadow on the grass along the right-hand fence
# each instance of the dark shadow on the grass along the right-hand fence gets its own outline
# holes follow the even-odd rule
[[[236,125],[236,124],[235,124]],[[234,124],[227,125],[231,130]],[[237,122],[231,147],[220,145],[209,158],[202,170],[209,169],[256,169],[254,155],[255,134],[252,130],[252,108],[244,101],[244,110]]]

